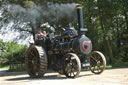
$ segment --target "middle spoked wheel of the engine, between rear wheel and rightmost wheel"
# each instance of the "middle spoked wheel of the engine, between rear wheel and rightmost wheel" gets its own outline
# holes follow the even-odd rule
[[[76,55],[68,54],[64,59],[64,73],[68,78],[75,78],[79,75],[81,66]]]

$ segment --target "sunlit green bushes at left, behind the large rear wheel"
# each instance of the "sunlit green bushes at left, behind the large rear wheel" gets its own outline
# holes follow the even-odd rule
[[[4,52],[0,55],[0,64],[9,64],[9,63],[24,63],[24,56],[26,53],[27,47],[24,45],[18,45],[13,42],[0,42],[0,44],[4,44],[0,46],[1,48],[5,47]],[[0,51],[2,51],[0,49]]]

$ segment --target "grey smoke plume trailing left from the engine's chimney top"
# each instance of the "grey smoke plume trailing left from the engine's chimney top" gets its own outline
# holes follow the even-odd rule
[[[23,8],[19,5],[9,5],[11,18],[31,22],[33,25],[37,23],[49,23],[49,25],[61,25],[62,27],[69,23],[76,22],[76,3],[72,4],[48,4],[44,6],[33,6],[31,8]]]

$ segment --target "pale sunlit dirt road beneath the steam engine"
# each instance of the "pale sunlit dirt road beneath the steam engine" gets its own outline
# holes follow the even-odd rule
[[[46,73],[31,79],[26,73],[0,71],[0,85],[128,85],[128,68],[105,70],[100,75],[82,71],[78,78],[69,79],[58,73]]]

